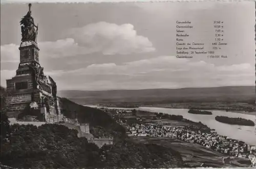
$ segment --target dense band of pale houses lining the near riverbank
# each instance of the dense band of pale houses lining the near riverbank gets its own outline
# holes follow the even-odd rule
[[[187,127],[157,126],[155,124],[137,124],[129,127],[128,130],[131,132],[130,135],[178,138],[236,157],[248,158],[251,151],[255,149],[255,146],[250,147],[242,141],[220,136],[214,131],[211,133],[201,133],[200,131],[190,131]]]

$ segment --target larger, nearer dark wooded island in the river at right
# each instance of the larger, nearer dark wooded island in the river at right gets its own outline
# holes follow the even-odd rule
[[[227,116],[216,116],[215,119],[218,122],[221,123],[226,123],[226,124],[230,124],[230,125],[241,125],[241,126],[254,126],[254,122],[252,122],[252,120],[249,119],[244,119],[244,118],[231,118],[231,117],[227,117]]]

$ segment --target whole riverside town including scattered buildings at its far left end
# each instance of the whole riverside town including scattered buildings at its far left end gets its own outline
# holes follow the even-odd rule
[[[120,110],[101,108],[107,113],[112,112],[112,117],[116,122],[126,128],[127,134],[130,136],[146,136],[146,137],[169,137],[183,140],[190,143],[200,144],[219,153],[232,156],[248,158],[251,166],[256,166],[256,146],[249,145],[243,141],[228,138],[217,134],[215,130],[200,131],[195,130],[193,126],[172,127],[161,124],[145,122],[145,118],[136,118],[139,123],[127,124],[127,120],[123,120],[123,115],[132,113],[135,115],[136,110]],[[114,112],[114,113],[113,113]],[[154,117],[156,119],[157,116]]]

